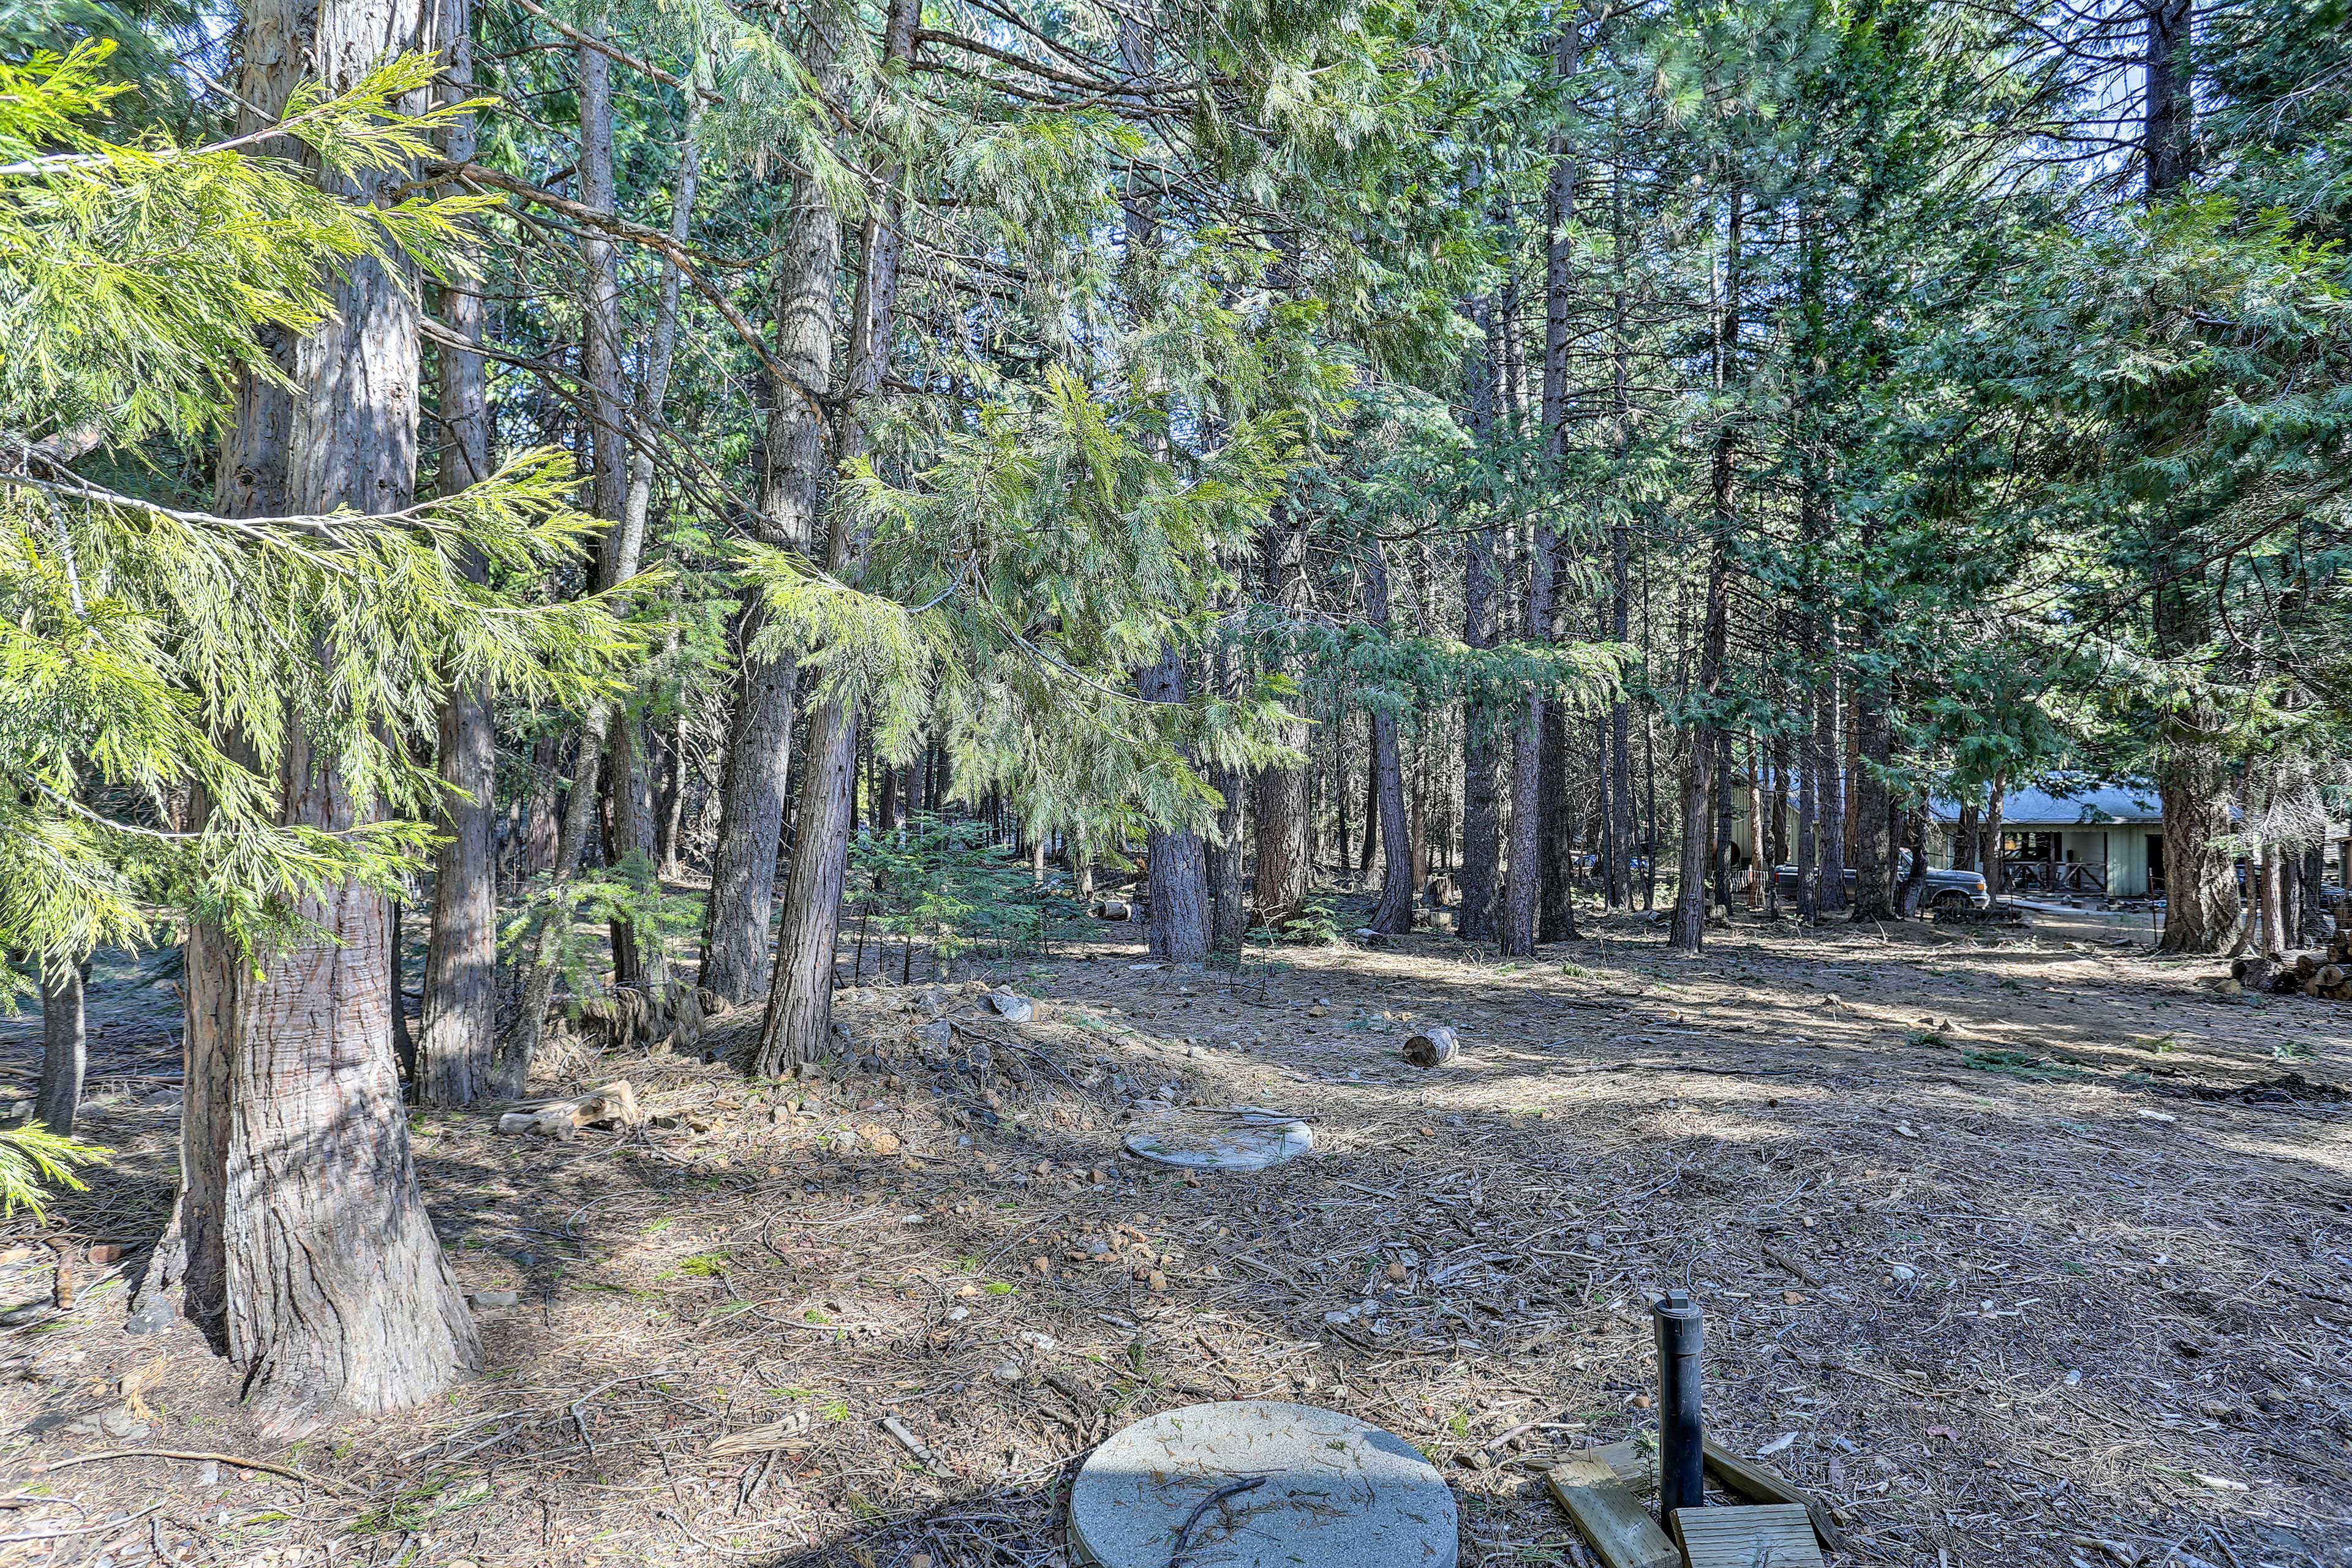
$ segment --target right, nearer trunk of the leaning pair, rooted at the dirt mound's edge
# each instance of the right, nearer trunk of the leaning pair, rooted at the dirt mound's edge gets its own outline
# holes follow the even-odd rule
[[[903,68],[915,49],[920,0],[891,0],[884,59]],[[887,87],[884,87],[887,92]],[[858,289],[849,317],[849,362],[837,395],[833,468],[866,454],[866,416],[889,374],[898,308],[898,259],[906,249],[903,202],[884,179],[882,202],[868,212],[858,244]],[[866,567],[868,538],[835,515],[826,538],[826,571],[854,583]],[[786,882],[776,933],[776,973],[760,1025],[760,1072],[816,1060],[833,1034],[833,947],[842,926],[842,879],[849,867],[849,795],[856,783],[856,715],[842,693],[823,693],[809,717],[800,804],[793,818],[793,875]]]

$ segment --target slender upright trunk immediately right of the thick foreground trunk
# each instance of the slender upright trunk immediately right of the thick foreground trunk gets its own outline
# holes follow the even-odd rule
[[[473,0],[440,0],[442,92],[473,96]],[[456,115],[442,155],[463,165],[475,153],[473,115]],[[442,324],[459,343],[482,341],[482,287],[456,277],[440,289]],[[442,343],[435,489],[456,496],[489,475],[489,376],[482,355]],[[482,562],[466,562],[480,581]],[[492,792],[499,743],[485,682],[456,682],[440,710],[442,846],[433,856],[433,926],[426,938],[426,994],[416,1030],[416,1098],[466,1105],[489,1091],[499,1056],[499,865],[492,844]]]

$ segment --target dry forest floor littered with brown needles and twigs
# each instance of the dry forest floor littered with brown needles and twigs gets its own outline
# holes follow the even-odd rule
[[[1089,936],[985,971],[1035,1023],[960,978],[844,992],[842,1058],[781,1084],[583,1063],[659,1112],[635,1133],[419,1112],[489,1366],[280,1450],[193,1328],[122,1331],[176,1117],[136,1074],[176,1048],[162,961],[103,966],[118,1166],[0,1237],[0,1563],[1063,1563],[1096,1441],[1268,1396],[1418,1443],[1465,1563],[1585,1566],[1538,1467],[1646,1432],[1670,1281],[1710,1432],[1823,1488],[1858,1561],[2352,1563],[2352,1009],[2063,933],[1743,924],[1675,959],[1628,919],[1240,978]],[[1399,1060],[1421,1020],[1458,1065]],[[24,1091],[33,1034],[0,1041]],[[1200,1185],[1120,1154],[1225,1105],[1317,1150]],[[139,1448],[292,1474],[89,1458]]]

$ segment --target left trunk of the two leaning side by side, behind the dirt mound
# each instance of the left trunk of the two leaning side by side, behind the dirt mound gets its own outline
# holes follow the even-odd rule
[[[818,99],[842,85],[833,24],[811,21],[802,52]],[[833,383],[835,273],[842,266],[842,219],[818,179],[800,179],[786,212],[776,259],[776,362],[800,388]],[[828,475],[828,423],[802,390],[769,386],[767,468],[760,482],[760,543],[816,552],[816,508]],[[729,1001],[750,1001],[767,985],[767,931],[776,903],[776,851],[790,776],[793,710],[800,658],[757,646],[767,604],[743,590],[736,614],[743,665],[736,675],[720,783],[720,832],[710,851],[710,903],[703,910],[701,983]]]

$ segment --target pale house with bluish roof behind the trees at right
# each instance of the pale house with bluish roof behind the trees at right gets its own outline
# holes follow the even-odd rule
[[[2053,785],[2016,790],[2002,799],[2002,891],[2161,898],[2164,811],[2154,785],[2091,778]],[[1952,865],[1957,830],[1959,802],[1931,802],[1931,863]]]

